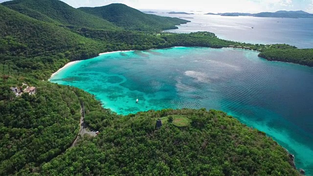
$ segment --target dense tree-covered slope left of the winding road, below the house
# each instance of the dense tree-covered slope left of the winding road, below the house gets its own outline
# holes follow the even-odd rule
[[[37,85],[36,96],[13,94],[13,100],[0,101],[1,176],[49,161],[78,133],[81,107],[76,95],[64,86]]]

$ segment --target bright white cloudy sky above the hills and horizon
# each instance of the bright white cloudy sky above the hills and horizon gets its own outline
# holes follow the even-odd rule
[[[6,0],[0,0],[3,2]],[[304,10],[313,13],[313,0],[62,0],[73,7],[94,7],[124,3],[137,9],[165,9],[203,12],[274,12]]]

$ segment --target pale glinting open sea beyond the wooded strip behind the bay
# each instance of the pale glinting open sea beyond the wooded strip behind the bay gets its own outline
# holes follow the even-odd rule
[[[190,33],[209,31],[219,38],[253,44],[291,44],[298,48],[313,48],[313,19],[222,17],[218,15],[170,15],[187,17],[191,22],[181,24],[170,32]],[[253,29],[251,28],[253,27]]]

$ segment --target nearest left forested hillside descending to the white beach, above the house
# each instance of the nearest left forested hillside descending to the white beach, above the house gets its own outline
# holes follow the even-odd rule
[[[96,56],[105,45],[0,5],[0,74],[44,79],[69,60]],[[9,71],[4,66],[10,67]],[[40,71],[39,71],[40,70]],[[39,72],[40,73],[39,73]]]

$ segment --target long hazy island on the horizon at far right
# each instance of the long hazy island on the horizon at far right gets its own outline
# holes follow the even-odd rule
[[[299,11],[285,11],[280,10],[277,12],[261,12],[256,14],[251,13],[207,13],[204,15],[220,15],[220,16],[230,16],[230,17],[238,17],[238,16],[250,16],[250,17],[272,17],[272,18],[313,18],[313,14],[308,12],[304,12],[302,10]]]

